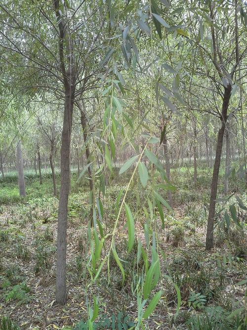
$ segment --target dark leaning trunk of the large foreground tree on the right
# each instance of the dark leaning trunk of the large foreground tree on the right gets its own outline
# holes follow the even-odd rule
[[[213,176],[211,183],[211,194],[208,210],[208,219],[207,219],[207,230],[206,230],[206,250],[209,250],[213,247],[213,225],[214,225],[214,215],[215,215],[215,204],[218,188],[218,178],[219,178],[219,167],[221,159],[222,144],[225,132],[225,125],[227,121],[227,110],[229,105],[229,100],[231,96],[231,86],[228,85],[224,91],[224,98],[222,104],[222,113],[221,113],[221,128],[218,131],[217,137],[217,146],[215,152],[215,160],[213,166]]]

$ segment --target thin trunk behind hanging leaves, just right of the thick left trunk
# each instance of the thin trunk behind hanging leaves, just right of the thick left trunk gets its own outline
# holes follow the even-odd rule
[[[85,142],[85,152],[86,152],[86,162],[87,164],[89,164],[91,162],[90,160],[90,148],[89,148],[89,143],[87,141],[87,137],[88,137],[88,129],[87,129],[87,121],[86,121],[86,106],[85,106],[85,102],[82,99],[82,106],[81,104],[78,102],[77,103],[80,112],[81,112],[81,124],[82,124],[82,130],[83,130],[83,140]],[[92,181],[92,172],[91,172],[91,168],[90,166],[88,166],[87,168],[87,173],[88,173],[88,178],[89,178],[89,188],[90,188],[90,192],[93,191],[93,181]],[[90,206],[90,224],[91,226],[93,226],[93,205],[91,204]]]

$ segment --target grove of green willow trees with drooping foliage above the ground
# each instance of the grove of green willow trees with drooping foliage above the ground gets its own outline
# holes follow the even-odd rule
[[[90,258],[85,269],[90,284],[105,268],[110,277],[115,260],[123,285],[127,276],[118,253],[120,224],[123,220],[127,228],[129,254],[141,219],[144,239],[137,240],[137,254],[145,276],[134,290],[137,327],[148,317],[144,306],[152,309],[147,301],[162,267],[158,234],[169,227],[167,219],[179,213],[179,178],[193,178],[193,187],[188,184],[186,189],[195,192],[205,168],[207,176],[212,174],[210,196],[205,191],[200,205],[208,218],[206,249],[215,246],[215,222],[219,226],[222,217],[217,191],[221,201],[236,191],[242,194],[246,175],[246,20],[246,8],[237,0],[0,4],[1,180],[18,169],[24,196],[25,173],[39,169],[43,186],[50,166],[54,200],[59,191],[59,304],[66,303],[73,189],[85,191],[80,217],[88,224]],[[219,181],[223,158],[224,191]],[[74,170],[77,179],[71,187]],[[237,175],[238,187],[229,188],[231,175]],[[114,180],[123,187],[112,193]],[[226,231],[229,214],[238,226],[237,206],[245,208],[242,199],[236,200],[224,210]],[[107,225],[106,217],[112,217]],[[157,304],[161,291],[155,297]]]

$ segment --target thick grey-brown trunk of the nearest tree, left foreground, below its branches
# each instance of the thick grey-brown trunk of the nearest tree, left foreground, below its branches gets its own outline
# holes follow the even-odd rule
[[[73,115],[73,98],[70,90],[65,90],[63,132],[61,143],[61,188],[58,206],[57,226],[57,260],[56,260],[56,301],[66,301],[66,249],[67,249],[67,218],[68,199],[70,192],[70,142]]]

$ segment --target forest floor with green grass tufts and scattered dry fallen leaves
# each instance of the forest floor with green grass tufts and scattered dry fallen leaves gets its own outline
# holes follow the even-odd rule
[[[229,229],[221,213],[215,229],[215,247],[210,252],[205,251],[211,173],[200,169],[196,186],[192,173],[192,169],[187,168],[174,175],[173,182],[177,187],[173,192],[174,213],[165,215],[164,229],[160,219],[156,221],[161,278],[154,292],[162,289],[163,294],[155,311],[145,320],[145,329],[243,330],[247,304],[247,212],[238,209],[240,226],[231,221]],[[43,185],[36,177],[27,180],[27,197],[22,200],[18,197],[16,182],[0,183],[0,317],[8,316],[20,329],[71,329],[79,321],[87,320],[88,304],[93,301],[93,295],[99,299],[99,315],[111,318],[113,314],[117,316],[123,312],[131,321],[138,316],[135,285],[142,271],[142,259],[138,265],[136,262],[138,239],[145,246],[145,216],[138,210],[148,189],[143,192],[135,183],[127,195],[128,204],[136,210],[137,237],[134,249],[128,255],[124,216],[119,224],[116,249],[124,260],[124,285],[111,255],[110,282],[107,267],[103,267],[98,280],[92,283],[88,270],[88,190],[86,182],[79,186],[75,177],[73,175],[69,201],[68,299],[63,307],[55,303],[58,199],[52,196],[51,178],[44,177]],[[121,179],[116,177],[107,189],[103,201],[104,233],[113,228],[116,196],[126,187],[126,182],[127,175]],[[243,182],[231,180],[229,196],[236,190],[247,204]],[[221,191],[222,186],[219,186],[219,195]],[[229,203],[234,201],[233,195],[230,201],[219,203],[218,210],[222,204],[227,210]],[[108,246],[106,240],[102,258]],[[179,299],[174,283],[181,295],[178,313]],[[211,324],[211,328],[206,328],[205,324]]]

